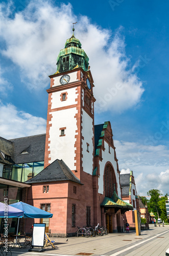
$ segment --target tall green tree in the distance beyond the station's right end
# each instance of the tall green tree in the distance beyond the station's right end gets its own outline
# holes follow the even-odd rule
[[[158,189],[150,189],[147,193],[148,196],[150,196],[150,201],[149,201],[149,206],[151,208],[152,211],[156,211],[158,218],[159,218],[159,205],[158,202],[160,201],[160,196],[162,196],[162,194],[160,193],[160,190]],[[149,207],[148,207],[149,209]]]

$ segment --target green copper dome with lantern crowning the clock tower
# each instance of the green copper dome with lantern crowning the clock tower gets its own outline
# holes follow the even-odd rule
[[[74,30],[73,30],[74,31]],[[81,42],[73,35],[66,40],[65,48],[60,50],[57,58],[57,74],[75,68],[88,70],[89,58],[85,51],[81,48]]]

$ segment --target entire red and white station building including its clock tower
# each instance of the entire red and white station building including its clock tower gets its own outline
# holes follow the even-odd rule
[[[94,125],[89,58],[74,29],[50,78],[46,134],[0,138],[0,201],[7,196],[9,204],[23,201],[52,212],[53,218],[35,222],[46,223],[53,236],[74,236],[77,226],[98,223],[121,232],[133,206],[122,200],[111,124]],[[26,231],[32,222],[26,219]],[[11,220],[10,231],[15,226]]]

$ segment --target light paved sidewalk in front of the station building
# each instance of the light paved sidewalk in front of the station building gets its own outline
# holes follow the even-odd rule
[[[44,252],[28,252],[26,249],[14,248],[12,255],[91,255],[91,256],[165,256],[169,248],[169,225],[142,230],[141,236],[135,231],[130,233],[110,233],[103,237],[93,238],[53,238],[57,249],[47,248]]]

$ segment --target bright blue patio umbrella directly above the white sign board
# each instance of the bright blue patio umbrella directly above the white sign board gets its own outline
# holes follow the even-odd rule
[[[52,218],[53,217],[53,214],[51,214],[50,212],[41,210],[35,206],[26,204],[23,202],[14,203],[14,204],[11,204],[11,206],[22,210],[24,218]]]

